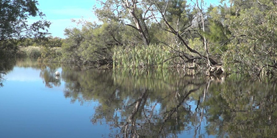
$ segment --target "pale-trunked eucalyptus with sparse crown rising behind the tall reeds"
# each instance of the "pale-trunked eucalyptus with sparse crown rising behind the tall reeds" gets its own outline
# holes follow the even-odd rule
[[[140,39],[143,40],[145,46],[150,44],[151,37],[146,21],[152,17],[153,4],[138,0],[99,0],[98,2],[102,7],[95,8],[95,13],[100,21],[115,20],[130,26],[139,32]]]

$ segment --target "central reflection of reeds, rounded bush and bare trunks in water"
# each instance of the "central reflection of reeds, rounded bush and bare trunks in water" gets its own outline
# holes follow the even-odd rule
[[[194,79],[175,71],[64,69],[65,96],[81,104],[98,101],[91,122],[109,124],[109,136],[178,137],[194,128],[191,132],[202,135],[197,130],[205,112],[199,107],[192,110],[189,102],[203,98],[207,85],[203,76]]]

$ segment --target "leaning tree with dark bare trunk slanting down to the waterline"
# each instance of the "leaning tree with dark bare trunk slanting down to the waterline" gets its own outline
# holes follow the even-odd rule
[[[203,39],[203,36],[202,39],[205,45],[205,52],[199,52],[199,50],[195,50],[195,48],[192,48],[186,40],[186,38],[191,36],[191,32],[195,32],[195,29],[193,28],[193,21],[195,21],[195,17],[197,17],[195,14],[193,14],[193,9],[195,6],[193,7],[187,5],[187,2],[184,0],[153,0],[152,2],[160,15],[160,17],[155,18],[161,20],[159,21],[161,29],[177,36],[178,40],[182,43],[181,46],[184,46],[187,49],[187,51],[180,51],[179,47],[177,49],[172,48],[172,52],[177,53],[183,59],[183,63],[197,63],[199,65],[203,65],[203,62],[200,61],[204,61],[204,63],[208,65],[210,72],[220,70],[220,68],[218,69],[215,66],[221,65],[221,63],[218,63],[213,58],[209,58],[209,53],[206,46],[207,42],[205,39]],[[199,5],[198,9],[201,12],[201,22],[203,22],[203,25],[200,28],[203,28],[203,9],[200,9]],[[198,15],[198,13],[196,15]],[[161,25],[161,23],[164,23],[165,26]],[[197,22],[197,24],[199,23],[200,22]],[[201,51],[203,50],[201,49]]]

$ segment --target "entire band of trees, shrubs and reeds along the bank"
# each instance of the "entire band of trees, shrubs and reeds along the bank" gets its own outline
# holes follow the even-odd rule
[[[45,16],[37,9],[37,1],[22,1],[34,6],[5,1],[23,10],[19,15],[1,12],[23,21],[28,16]],[[200,0],[99,0],[98,4],[93,12],[99,22],[72,19],[79,27],[66,28],[65,39],[49,36],[46,28],[51,23],[45,20],[26,24],[30,28],[23,33],[16,30],[22,26],[3,26],[10,30],[2,32],[6,36],[0,39],[0,52],[3,57],[33,57],[39,62],[95,68],[183,68],[207,75],[276,76],[276,1],[205,5]],[[29,15],[24,14],[26,8]],[[16,25],[15,19],[6,20]]]

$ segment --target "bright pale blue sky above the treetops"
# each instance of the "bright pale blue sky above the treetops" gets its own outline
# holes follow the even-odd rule
[[[97,17],[92,12],[93,6],[99,4],[96,0],[37,0],[40,9],[46,14],[47,21],[50,21],[49,33],[52,36],[65,38],[64,29],[76,27],[76,23],[71,22],[71,19],[79,20],[83,18],[86,21],[97,21]],[[189,0],[188,0],[189,1]],[[204,0],[208,3],[218,3],[218,0]],[[28,22],[33,23],[38,21],[38,17],[30,17]]]

